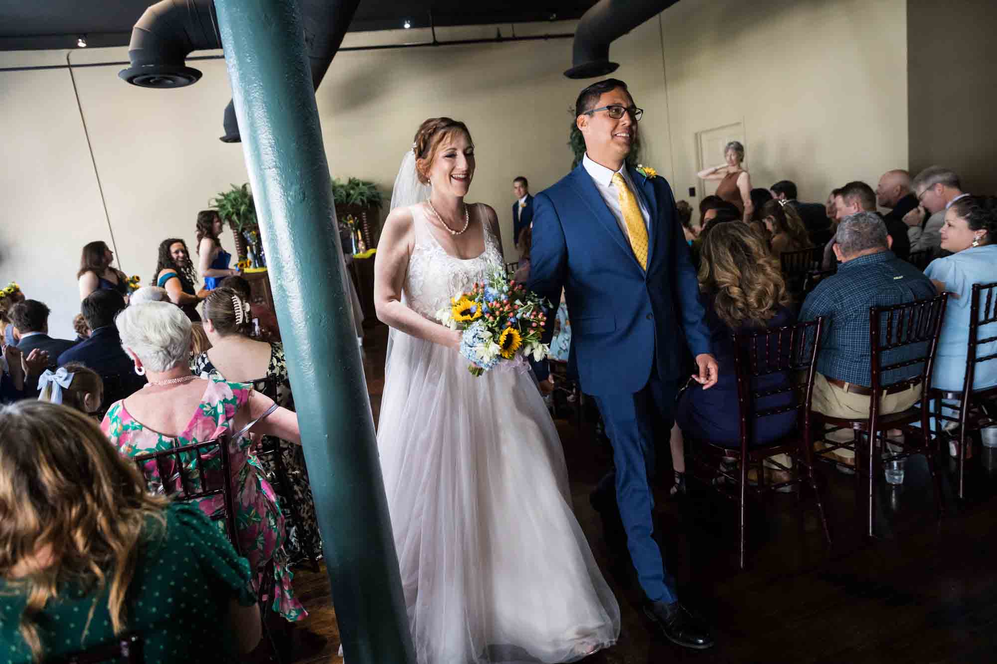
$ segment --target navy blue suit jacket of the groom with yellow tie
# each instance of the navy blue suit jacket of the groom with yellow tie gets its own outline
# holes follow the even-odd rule
[[[633,394],[656,363],[664,380],[685,374],[684,339],[710,353],[696,271],[664,177],[629,170],[650,211],[645,272],[584,166],[533,202],[529,288],[551,302],[565,290],[569,367],[586,394]]]

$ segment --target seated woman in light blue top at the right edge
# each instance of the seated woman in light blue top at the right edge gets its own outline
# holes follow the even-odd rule
[[[969,307],[974,283],[997,281],[997,196],[965,196],[945,211],[941,248],[952,252],[924,270],[939,292],[951,293],[932,373],[932,387],[958,391],[966,377]],[[997,336],[997,323],[980,328],[980,337]],[[997,353],[997,342],[977,347],[977,357]],[[973,389],[997,385],[997,360],[976,365]]]

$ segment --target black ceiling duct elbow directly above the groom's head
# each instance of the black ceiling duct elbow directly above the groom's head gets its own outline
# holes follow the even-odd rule
[[[609,44],[678,0],[599,0],[585,12],[574,31],[569,79],[591,79],[616,71]]]

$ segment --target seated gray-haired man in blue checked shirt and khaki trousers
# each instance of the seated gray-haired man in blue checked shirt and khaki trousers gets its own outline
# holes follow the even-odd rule
[[[870,358],[869,307],[903,304],[935,296],[934,286],[916,267],[889,250],[892,237],[874,212],[856,212],[841,219],[834,234],[834,253],[841,265],[804,300],[800,320],[825,317],[821,353],[817,358],[813,409],[837,418],[864,419],[869,412]],[[897,349],[903,352],[905,349]],[[899,361],[897,351],[887,351],[883,362]],[[892,383],[920,371],[914,365],[884,376]],[[880,400],[880,414],[910,408],[919,399],[921,386],[887,393]],[[829,434],[835,441],[852,440],[851,432]],[[832,453],[839,462],[854,466],[850,450]]]

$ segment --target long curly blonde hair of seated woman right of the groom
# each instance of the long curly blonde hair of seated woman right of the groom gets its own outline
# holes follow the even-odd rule
[[[714,296],[714,310],[732,329],[764,325],[791,301],[765,239],[741,222],[721,223],[703,234],[699,285]]]

